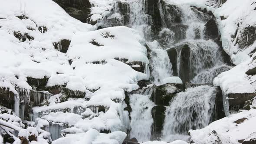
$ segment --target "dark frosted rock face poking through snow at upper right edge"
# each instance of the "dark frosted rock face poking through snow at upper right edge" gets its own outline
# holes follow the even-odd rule
[[[256,39],[256,26],[248,26],[239,29],[239,35],[237,35],[236,44],[239,45],[240,49],[246,49],[251,46]],[[235,44],[235,45],[236,45]]]

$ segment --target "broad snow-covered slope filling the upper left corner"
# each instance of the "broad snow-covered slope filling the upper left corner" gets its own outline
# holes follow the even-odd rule
[[[22,14],[29,19],[20,20],[16,17]],[[4,1],[0,6],[0,17],[0,86],[10,88],[14,93],[17,93],[15,86],[31,89],[26,83],[27,76],[50,77],[59,70],[65,72],[72,69],[65,54],[54,49],[53,42],[71,39],[78,31],[93,30],[91,25],[69,16],[52,0],[21,0],[20,3],[16,0]],[[40,33],[38,26],[46,26],[47,32]],[[28,27],[35,30],[29,30]],[[27,39],[21,43],[13,36],[13,31],[28,33],[34,40]]]

